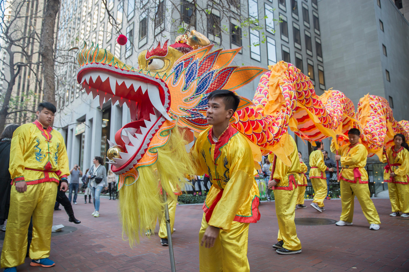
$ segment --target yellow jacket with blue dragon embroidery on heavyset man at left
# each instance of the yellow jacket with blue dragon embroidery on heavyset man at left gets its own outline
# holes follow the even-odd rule
[[[61,134],[51,127],[44,130],[38,120],[18,127],[11,139],[9,171],[13,184],[66,179],[70,169]]]

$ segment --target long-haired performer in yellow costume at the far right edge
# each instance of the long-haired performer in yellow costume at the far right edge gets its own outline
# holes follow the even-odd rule
[[[409,217],[409,147],[402,134],[396,134],[393,141],[395,145],[386,150],[392,169],[387,165],[383,173],[383,180],[388,182],[392,206],[390,216],[399,216],[399,212],[402,212],[401,217]],[[388,162],[385,154],[382,161]]]

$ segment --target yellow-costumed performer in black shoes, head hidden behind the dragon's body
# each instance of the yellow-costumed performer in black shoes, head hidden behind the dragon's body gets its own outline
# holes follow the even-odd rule
[[[301,171],[300,159],[298,157],[297,145],[291,135],[290,138],[294,150],[288,156],[291,166],[285,165],[276,155],[268,155],[271,161],[271,177],[268,188],[274,190],[276,201],[276,214],[278,220],[278,242],[272,245],[279,254],[301,253],[301,242],[297,237],[296,216],[297,205],[297,179]]]

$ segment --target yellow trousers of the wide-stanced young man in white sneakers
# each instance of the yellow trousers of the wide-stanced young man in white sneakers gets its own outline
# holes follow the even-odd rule
[[[354,217],[354,198],[359,201],[363,215],[367,217],[369,224],[380,224],[378,212],[371,200],[368,184],[351,183],[340,181],[342,213],[340,220],[352,222]]]

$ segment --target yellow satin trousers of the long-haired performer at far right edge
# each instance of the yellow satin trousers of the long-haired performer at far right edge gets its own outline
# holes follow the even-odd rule
[[[409,184],[388,182],[392,212],[409,213]]]

